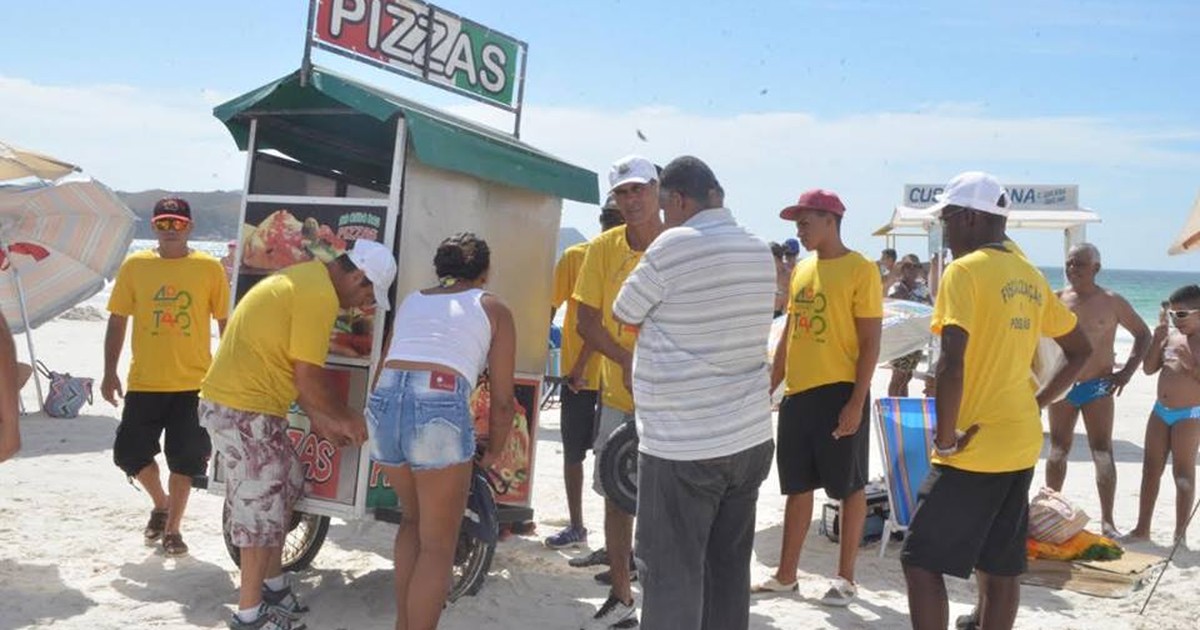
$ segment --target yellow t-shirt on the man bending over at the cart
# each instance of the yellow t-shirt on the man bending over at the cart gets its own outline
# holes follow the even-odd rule
[[[337,293],[325,264],[292,265],[254,284],[229,318],[200,397],[287,416],[296,398],[293,361],[325,365]]]

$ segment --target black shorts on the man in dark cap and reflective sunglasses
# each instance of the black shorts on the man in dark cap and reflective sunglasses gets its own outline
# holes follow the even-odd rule
[[[130,391],[125,395],[121,424],[113,442],[113,463],[130,476],[137,476],[166,452],[172,473],[200,476],[205,474],[212,443],[200,426],[197,406],[199,391]],[[164,448],[158,439],[167,433]]]

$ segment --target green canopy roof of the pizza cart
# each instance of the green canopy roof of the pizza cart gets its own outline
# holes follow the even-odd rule
[[[302,163],[382,185],[391,178],[395,118],[422,163],[508,186],[595,204],[596,174],[544,154],[511,136],[313,67],[214,108],[238,148],[250,144],[258,120],[258,148]]]

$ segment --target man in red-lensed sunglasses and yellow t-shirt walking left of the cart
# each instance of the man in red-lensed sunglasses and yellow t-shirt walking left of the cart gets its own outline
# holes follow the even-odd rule
[[[168,556],[182,556],[187,545],[179,529],[187,494],[192,479],[204,475],[211,452],[209,434],[196,415],[197,395],[212,361],[212,319],[224,330],[229,283],[216,258],[187,246],[192,209],[186,200],[160,199],[151,224],[158,247],[130,254],[116,272],[100,392],[114,407],[125,394],[113,462],[154,502],[145,541],[161,540]],[[132,360],[124,392],[116,365],[131,317]],[[170,470],[166,492],[155,462],[160,450]]]

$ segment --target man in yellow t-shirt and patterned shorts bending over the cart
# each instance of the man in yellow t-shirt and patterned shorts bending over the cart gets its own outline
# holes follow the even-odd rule
[[[388,310],[396,260],[358,240],[329,263],[310,260],[259,281],[238,302],[200,388],[200,424],[226,480],[226,528],[241,550],[234,630],[288,630],[307,611],[282,575],[283,540],[304,488],[286,419],[295,401],[336,446],[367,439],[362,413],[337,402],[323,370],[338,307]],[[275,625],[270,625],[275,624]]]

